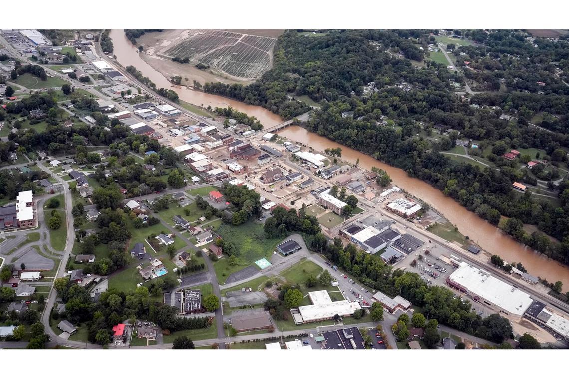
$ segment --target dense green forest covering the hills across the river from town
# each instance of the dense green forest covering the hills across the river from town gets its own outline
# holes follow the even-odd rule
[[[471,60],[471,69],[455,72],[427,59],[427,46],[436,43],[436,34],[331,31],[304,37],[288,31],[275,47],[273,68],[260,80],[248,86],[207,83],[203,89],[261,105],[285,119],[308,110],[295,100],[308,95],[321,105],[312,112],[308,130],[405,169],[494,225],[501,215],[511,218],[500,225],[505,232],[569,263],[569,180],[563,178],[569,87],[562,82],[569,44],[523,32],[453,31],[476,42],[448,45],[455,50],[457,66]],[[465,81],[494,92],[455,90]],[[348,111],[353,116],[343,115]],[[543,129],[530,124],[538,113],[541,119],[535,122]],[[435,126],[453,132],[428,138]],[[492,147],[488,159],[499,169],[458,163],[440,153],[451,149],[459,134],[480,140],[480,150]],[[535,184],[535,178],[501,157],[508,148],[545,150],[541,158],[553,168],[538,178],[558,194],[557,202],[532,197],[531,188],[523,195],[512,190],[512,182]],[[539,231],[527,234],[522,223]]]

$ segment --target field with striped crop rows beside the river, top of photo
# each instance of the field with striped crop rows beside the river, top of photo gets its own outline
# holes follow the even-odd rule
[[[234,77],[258,78],[273,63],[277,39],[220,30],[191,30],[187,38],[164,54],[188,57],[190,64],[202,63]]]

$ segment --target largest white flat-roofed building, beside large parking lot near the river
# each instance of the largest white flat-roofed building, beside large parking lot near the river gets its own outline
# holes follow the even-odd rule
[[[527,293],[465,262],[459,264],[446,282],[474,301],[506,315],[521,317],[532,302]]]

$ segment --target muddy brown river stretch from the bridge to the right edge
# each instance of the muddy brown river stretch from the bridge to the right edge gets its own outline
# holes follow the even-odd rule
[[[404,170],[382,163],[369,155],[299,126],[286,127],[279,130],[278,134],[310,146],[317,151],[341,147],[342,159],[351,163],[360,159],[360,167],[365,169],[371,169],[373,166],[384,169],[389,173],[394,184],[434,207],[455,225],[461,234],[468,236],[485,251],[500,255],[502,259],[508,262],[521,262],[527,271],[534,276],[546,278],[550,282],[560,280],[566,285],[569,284],[569,267],[517,243],[509,236],[502,234],[492,224],[485,222],[450,197],[446,197],[442,191],[418,178],[410,177]]]

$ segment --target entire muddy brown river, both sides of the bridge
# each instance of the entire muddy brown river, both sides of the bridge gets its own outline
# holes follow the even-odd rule
[[[194,91],[192,89],[172,87],[171,83],[166,80],[166,77],[142,60],[139,56],[138,49],[126,38],[123,30],[112,30],[110,32],[110,38],[113,40],[114,55],[117,56],[117,60],[121,65],[125,67],[130,65],[135,66],[144,76],[149,77],[158,88],[164,87],[175,90],[183,101],[198,106],[203,104],[204,107],[208,105],[212,107],[230,106],[233,109],[255,116],[265,127],[274,126],[283,122],[281,117],[263,107],[248,105],[222,96]],[[500,255],[502,259],[508,262],[521,262],[528,272],[534,276],[546,278],[550,282],[560,280],[564,284],[569,285],[569,267],[548,259],[546,256],[535,253],[532,249],[517,243],[509,236],[502,234],[498,228],[485,222],[450,197],[444,196],[438,189],[417,178],[408,176],[404,170],[382,163],[381,161],[373,159],[373,157],[336,143],[323,136],[319,136],[299,126],[284,128],[279,131],[279,135],[303,143],[317,151],[324,151],[326,148],[341,147],[342,158],[344,160],[355,163],[357,159],[360,159],[360,166],[362,168],[370,169],[372,166],[377,166],[386,170],[397,186],[434,207],[455,225],[461,234],[468,236],[485,251]]]

